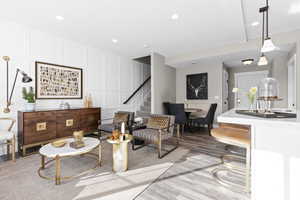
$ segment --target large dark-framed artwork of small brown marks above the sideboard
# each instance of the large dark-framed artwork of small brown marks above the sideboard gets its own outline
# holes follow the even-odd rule
[[[36,99],[82,99],[82,69],[35,62]]]

